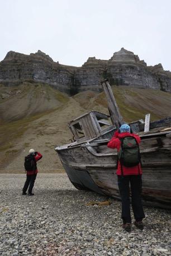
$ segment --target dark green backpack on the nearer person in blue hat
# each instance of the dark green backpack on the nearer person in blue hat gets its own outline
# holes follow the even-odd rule
[[[121,165],[134,167],[141,162],[139,144],[132,136],[126,136],[121,140],[121,149],[118,152],[118,160]]]

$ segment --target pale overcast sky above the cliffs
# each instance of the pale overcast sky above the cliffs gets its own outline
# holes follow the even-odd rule
[[[171,70],[171,0],[0,0],[0,60],[44,51],[80,67],[124,47]]]

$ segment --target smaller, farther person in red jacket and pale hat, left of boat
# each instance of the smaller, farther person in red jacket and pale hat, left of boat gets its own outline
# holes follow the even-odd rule
[[[34,166],[32,168],[32,170],[27,170],[27,178],[26,178],[26,182],[23,186],[23,189],[22,189],[22,195],[27,195],[26,191],[27,191],[27,188],[28,188],[28,196],[34,196],[34,193],[32,193],[32,189],[34,187],[34,183],[35,183],[35,179],[36,179],[36,176],[37,176],[37,161],[39,161],[41,158],[42,158],[42,155],[39,153],[39,152],[35,152],[34,149],[30,149],[28,151],[29,156],[32,156],[33,158],[33,161],[34,161]]]

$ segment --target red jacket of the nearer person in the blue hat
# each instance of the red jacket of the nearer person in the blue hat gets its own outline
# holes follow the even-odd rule
[[[107,146],[108,148],[111,149],[117,149],[117,151],[120,151],[120,147],[121,147],[121,140],[122,138],[126,137],[126,136],[132,136],[136,139],[137,143],[140,143],[141,139],[138,135],[136,134],[130,134],[130,132],[122,132],[121,134],[118,133],[118,131],[115,132],[115,134],[113,135],[112,139],[108,142]],[[141,164],[136,165],[134,167],[125,167],[124,165],[122,165],[122,170],[123,170],[123,174],[124,175],[137,175],[137,174],[142,174],[142,169],[141,169]],[[122,175],[121,173],[121,163],[118,160],[118,165],[117,165],[117,171],[116,171],[117,175]]]

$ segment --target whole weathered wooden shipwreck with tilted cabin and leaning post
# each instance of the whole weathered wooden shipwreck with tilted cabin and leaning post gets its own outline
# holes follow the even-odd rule
[[[110,115],[91,111],[75,118],[69,123],[75,141],[57,146],[55,150],[76,188],[120,199],[116,176],[117,150],[107,148],[107,143],[124,120],[108,80],[102,82],[102,87]],[[150,122],[150,115],[146,115],[145,121],[129,125],[131,132],[141,137],[143,202],[171,209],[171,117]]]

